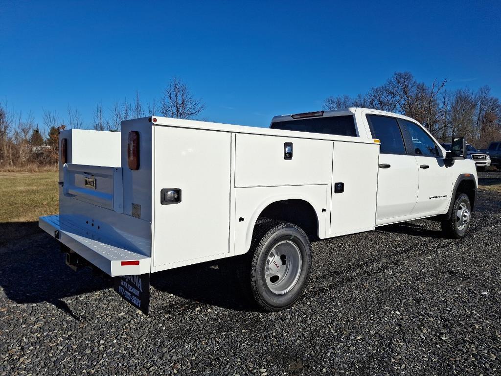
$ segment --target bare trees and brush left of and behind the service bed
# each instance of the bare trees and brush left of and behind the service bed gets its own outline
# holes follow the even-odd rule
[[[32,112],[9,110],[6,101],[0,102],[0,168],[27,164],[57,164],[59,132],[64,129],[95,129],[119,131],[126,119],[158,114],[179,119],[195,119],[205,104],[191,93],[180,78],[174,77],[162,91],[159,100],[144,104],[136,92],[132,100],[116,101],[106,108],[96,103],[90,123],[85,124],[78,108],[68,106],[66,114],[45,110],[42,127]]]

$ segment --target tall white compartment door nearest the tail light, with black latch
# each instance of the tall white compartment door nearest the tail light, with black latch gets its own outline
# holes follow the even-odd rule
[[[163,126],[154,132],[153,265],[226,254],[231,134]],[[172,190],[180,190],[177,203],[165,201]]]

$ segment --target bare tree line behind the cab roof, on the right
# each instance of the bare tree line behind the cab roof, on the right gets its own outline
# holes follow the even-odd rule
[[[501,103],[490,88],[449,90],[447,82],[435,79],[426,84],[410,72],[395,72],[366,94],[326,98],[323,109],[366,107],[397,112],[419,121],[440,142],[461,136],[477,148],[486,148],[491,141],[501,141]]]

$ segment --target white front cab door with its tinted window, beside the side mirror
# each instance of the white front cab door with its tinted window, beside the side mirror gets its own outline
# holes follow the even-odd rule
[[[407,133],[419,170],[419,194],[412,214],[442,212],[450,201],[451,168],[445,165],[437,143],[421,126],[404,119],[399,119],[399,123]]]

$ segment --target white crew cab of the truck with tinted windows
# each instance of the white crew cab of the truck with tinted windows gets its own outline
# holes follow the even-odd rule
[[[478,181],[474,162],[456,158],[451,163],[440,143],[407,116],[347,108],[275,116],[270,127],[379,139],[376,226],[448,213],[462,181],[474,204]]]

